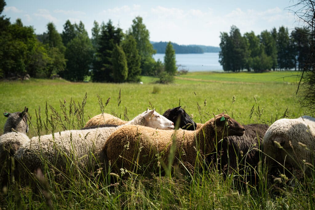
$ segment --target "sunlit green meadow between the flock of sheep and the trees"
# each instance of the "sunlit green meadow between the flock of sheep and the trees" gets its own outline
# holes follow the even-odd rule
[[[236,120],[248,124],[258,120],[253,116],[250,118],[251,109],[256,104],[256,108],[259,106],[263,110],[259,120],[271,124],[275,119],[283,116],[286,110],[288,110],[286,115],[291,118],[309,114],[308,110],[300,107],[299,97],[295,94],[297,77],[294,77],[294,74],[296,73],[197,72],[177,77],[175,83],[169,85],[156,84],[154,81],[157,78],[152,77],[143,77],[143,85],[71,83],[64,80],[42,79],[22,82],[3,81],[0,82],[2,90],[0,96],[3,98],[0,107],[3,111],[15,112],[27,106],[29,114],[35,116],[35,110],[39,107],[44,110],[46,102],[48,106],[51,105],[58,111],[60,102],[66,101],[65,106],[69,105],[71,99],[81,103],[86,93],[84,121],[101,113],[98,94],[104,103],[111,97],[104,112],[115,113],[122,118],[125,109],[128,118],[132,119],[147,107],[154,107],[157,112],[163,114],[166,109],[180,104],[185,107],[187,113],[194,116],[196,122],[209,119],[208,114],[212,116],[212,113],[227,111]],[[251,82],[247,82],[249,78]],[[121,90],[121,103],[118,107],[119,90]],[[232,104],[233,96],[236,97],[236,101]],[[206,113],[205,119],[200,118],[198,104]],[[50,109],[48,113],[51,113]],[[4,117],[0,118],[0,124],[4,125],[5,120]]]

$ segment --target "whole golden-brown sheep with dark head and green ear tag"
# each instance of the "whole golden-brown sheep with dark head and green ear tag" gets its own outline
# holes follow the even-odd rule
[[[173,139],[176,143],[173,165],[179,161],[186,167],[195,167],[198,153],[208,156],[215,143],[228,135],[242,136],[244,127],[227,114],[218,114],[206,122],[199,130],[162,131],[152,128],[128,125],[121,127],[107,139],[101,158],[112,165],[115,173],[122,174],[121,168],[145,171],[146,166],[156,172],[153,166],[158,162],[168,164]],[[157,159],[157,157],[161,157]],[[122,170],[123,171],[123,170]]]

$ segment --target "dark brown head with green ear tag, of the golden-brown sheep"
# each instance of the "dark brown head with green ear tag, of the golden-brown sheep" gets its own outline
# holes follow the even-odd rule
[[[243,136],[245,128],[227,114],[215,115],[215,129],[221,130],[223,137]]]

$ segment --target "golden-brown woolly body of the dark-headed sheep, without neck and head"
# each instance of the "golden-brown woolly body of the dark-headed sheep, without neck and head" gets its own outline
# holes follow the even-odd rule
[[[186,138],[187,136],[192,138]],[[119,173],[120,168],[145,171],[148,167],[157,170],[158,161],[168,164],[172,137],[175,137],[177,144],[173,164],[177,164],[178,158],[181,158],[183,162],[194,165],[197,151],[193,149],[196,142],[193,136],[194,131],[156,130],[140,125],[128,125],[112,133],[104,144],[102,156],[108,158],[116,173]],[[161,157],[160,160],[157,155]]]

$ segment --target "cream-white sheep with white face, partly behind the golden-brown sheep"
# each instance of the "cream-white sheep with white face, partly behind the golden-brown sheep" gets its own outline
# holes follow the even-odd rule
[[[174,128],[173,122],[167,120],[155,110],[145,111],[127,124],[145,125],[154,129]],[[14,157],[21,164],[25,165],[24,169],[30,172],[36,170],[37,167],[41,167],[43,160],[46,160],[50,166],[54,166],[62,172],[65,172],[67,166],[73,165],[71,164],[72,161],[80,168],[90,171],[94,169],[96,162],[100,162],[99,153],[107,137],[118,128],[102,127],[70,130],[33,137],[31,142],[23,145]]]

